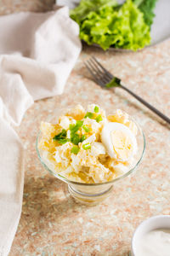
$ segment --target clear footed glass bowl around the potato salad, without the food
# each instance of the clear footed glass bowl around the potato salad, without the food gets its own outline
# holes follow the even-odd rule
[[[132,119],[132,118],[130,118]],[[57,117],[53,118],[55,122],[52,121],[52,123],[56,123]],[[133,120],[133,119],[132,119]],[[104,201],[108,195],[111,194],[111,190],[113,189],[114,183],[117,181],[121,180],[124,177],[127,177],[130,175],[134,170],[139,166],[139,163],[143,159],[144,156],[144,150],[145,150],[145,138],[144,138],[144,133],[140,126],[133,120],[135,125],[138,127],[138,134],[137,134],[137,143],[138,143],[138,153],[135,155],[135,160],[133,161],[133,165],[130,166],[128,172],[122,174],[119,177],[116,177],[115,179],[105,182],[105,183],[79,183],[75,181],[71,181],[67,179],[66,177],[63,177],[59,175],[59,173],[54,172],[52,168],[48,165],[46,160],[42,158],[42,152],[41,150],[38,149],[38,143],[39,140],[41,139],[41,131],[37,135],[37,143],[36,143],[36,148],[37,148],[37,155],[39,160],[42,163],[42,166],[45,167],[46,170],[48,170],[49,173],[54,175],[54,177],[59,178],[63,182],[68,184],[68,189],[70,194],[74,197],[74,199],[78,202],[81,202],[82,204],[86,204],[88,206],[94,206],[98,204],[101,201]]]

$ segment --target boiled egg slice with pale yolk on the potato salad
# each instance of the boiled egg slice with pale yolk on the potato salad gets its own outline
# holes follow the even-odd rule
[[[128,161],[137,152],[136,137],[126,126],[116,122],[107,123],[101,131],[101,141],[111,158]]]

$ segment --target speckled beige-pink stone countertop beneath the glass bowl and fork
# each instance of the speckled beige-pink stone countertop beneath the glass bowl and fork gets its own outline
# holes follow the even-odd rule
[[[0,14],[44,11],[53,1],[1,1]],[[126,92],[102,90],[83,67],[90,55],[123,84],[170,116],[170,41],[138,53],[103,52],[84,47],[65,85],[65,93],[30,108],[17,131],[26,146],[26,175],[20,224],[9,256],[127,256],[133,231],[145,218],[170,214],[170,130]],[[115,183],[111,196],[96,207],[77,204],[67,185],[43,169],[36,153],[37,131],[55,108],[71,102],[96,102],[106,111],[133,115],[146,137],[146,152],[131,177]]]

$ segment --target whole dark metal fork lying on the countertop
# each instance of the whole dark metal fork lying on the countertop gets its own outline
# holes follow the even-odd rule
[[[139,102],[144,104],[144,106],[150,108],[152,112],[156,113],[159,117],[161,117],[161,119],[167,121],[167,123],[170,124],[170,119],[166,115],[151,106],[150,103],[145,102],[144,99],[133,93],[132,90],[129,90],[127,87],[122,85],[121,80],[114,77],[108,70],[106,70],[105,67],[103,67],[94,56],[92,56],[88,61],[85,61],[84,64],[88,68],[89,73],[91,73],[94,77],[94,81],[101,87],[118,87],[126,90],[130,95],[134,96],[137,100],[139,100]]]

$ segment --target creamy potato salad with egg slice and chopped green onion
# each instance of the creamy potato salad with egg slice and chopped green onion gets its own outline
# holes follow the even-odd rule
[[[41,123],[42,160],[53,172],[79,183],[105,183],[129,171],[138,150],[138,128],[117,109],[106,116],[96,104],[67,109],[57,124]]]

